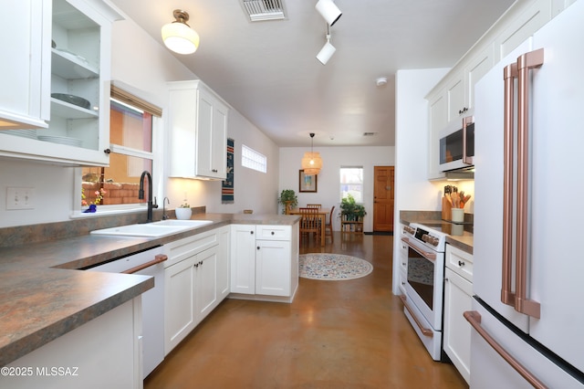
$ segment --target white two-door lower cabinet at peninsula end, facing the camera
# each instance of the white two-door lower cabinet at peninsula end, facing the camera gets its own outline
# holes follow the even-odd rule
[[[232,297],[290,302],[297,286],[297,224],[231,226]]]

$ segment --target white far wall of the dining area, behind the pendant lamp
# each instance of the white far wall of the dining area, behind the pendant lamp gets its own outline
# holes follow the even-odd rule
[[[308,203],[322,204],[330,208],[335,205],[333,229],[340,230],[339,215],[340,184],[339,168],[341,166],[363,166],[364,205],[367,211],[363,222],[366,232],[373,230],[373,166],[392,166],[394,164],[395,149],[386,147],[315,147],[320,152],[322,170],[318,173],[317,193],[299,193],[298,171],[304,152],[310,151],[307,147],[283,147],[280,149],[280,174],[277,196],[284,189],[293,189],[298,196],[298,205]],[[280,207],[281,212],[281,207]]]

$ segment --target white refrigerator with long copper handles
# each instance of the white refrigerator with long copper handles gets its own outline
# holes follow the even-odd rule
[[[474,101],[471,387],[583,388],[584,0],[486,74]]]

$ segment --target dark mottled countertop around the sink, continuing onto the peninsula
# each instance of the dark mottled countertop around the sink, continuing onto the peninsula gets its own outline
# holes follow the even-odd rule
[[[81,235],[0,247],[0,366],[153,288],[149,276],[79,271],[229,224],[294,225],[299,216],[195,214],[213,224],[172,236]],[[25,228],[28,228],[26,226]]]

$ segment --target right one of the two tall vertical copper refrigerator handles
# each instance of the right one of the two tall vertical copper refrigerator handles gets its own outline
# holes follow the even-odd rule
[[[539,319],[540,305],[527,299],[527,213],[529,195],[529,70],[544,63],[544,49],[517,58],[517,219],[515,309]]]

